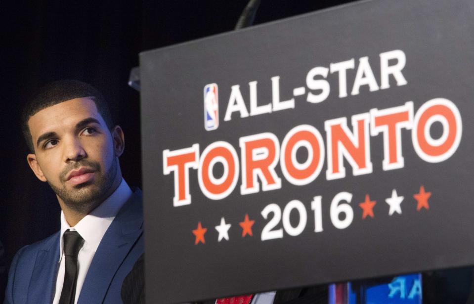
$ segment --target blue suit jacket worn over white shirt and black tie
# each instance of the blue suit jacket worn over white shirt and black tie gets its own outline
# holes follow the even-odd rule
[[[142,194],[136,190],[104,234],[78,304],[120,304],[124,278],[143,254]],[[8,275],[4,304],[52,303],[59,267],[59,232],[23,247]]]

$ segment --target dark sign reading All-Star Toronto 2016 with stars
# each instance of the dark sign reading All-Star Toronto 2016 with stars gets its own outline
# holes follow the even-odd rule
[[[474,263],[474,4],[140,54],[149,303]]]

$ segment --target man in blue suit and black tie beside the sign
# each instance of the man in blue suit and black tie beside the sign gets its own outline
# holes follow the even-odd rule
[[[122,178],[124,133],[102,95],[78,81],[43,88],[23,113],[34,174],[61,207],[61,231],[22,248],[5,304],[118,304],[143,254],[142,198]]]

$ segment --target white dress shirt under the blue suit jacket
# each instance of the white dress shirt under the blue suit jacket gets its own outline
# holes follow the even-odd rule
[[[89,270],[90,262],[94,258],[97,247],[114,220],[119,210],[124,206],[125,202],[130,198],[132,192],[129,185],[122,179],[122,182],[117,189],[105,201],[95,208],[90,214],[81,219],[74,227],[69,226],[63,212],[61,212],[61,239],[59,241],[59,270],[56,278],[56,291],[54,294],[53,304],[59,303],[61,291],[64,284],[64,241],[63,234],[69,229],[77,231],[84,239],[84,245],[79,251],[78,256],[78,278],[76,285],[76,300],[77,303],[81,293],[84,279],[86,278],[87,270]]]

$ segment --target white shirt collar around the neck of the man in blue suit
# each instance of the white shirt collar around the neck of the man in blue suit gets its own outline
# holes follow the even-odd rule
[[[61,238],[59,240],[59,259],[61,259],[64,252],[63,234],[67,229],[76,230],[84,239],[87,248],[94,252],[99,247],[100,241],[110,224],[114,220],[119,210],[129,200],[132,195],[131,189],[125,179],[115,189],[105,201],[91,213],[81,219],[74,227],[69,226],[64,213],[61,211]]]

